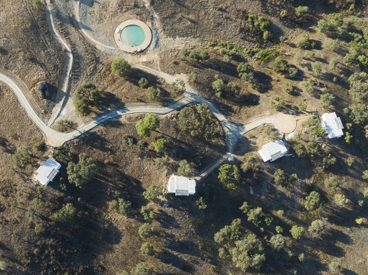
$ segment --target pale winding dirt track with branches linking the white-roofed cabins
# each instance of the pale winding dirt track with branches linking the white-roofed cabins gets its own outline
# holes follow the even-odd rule
[[[60,146],[63,143],[65,143],[68,140],[72,140],[74,138],[78,138],[79,136],[83,135],[84,133],[86,133],[87,131],[93,129],[94,127],[96,127],[97,125],[105,122],[108,119],[111,118],[115,118],[115,117],[119,117],[122,115],[128,115],[128,114],[135,114],[135,113],[155,113],[155,114],[160,114],[160,115],[164,115],[164,114],[168,114],[174,110],[177,110],[181,107],[183,107],[184,105],[190,103],[190,102],[196,102],[196,103],[205,103],[209,106],[210,111],[216,116],[216,118],[222,123],[222,125],[225,128],[226,131],[226,142],[228,145],[228,151],[227,153],[220,159],[217,160],[214,164],[212,164],[210,167],[208,167],[207,169],[205,169],[198,177],[197,179],[201,179],[205,176],[207,176],[214,168],[216,168],[218,165],[220,165],[223,161],[227,160],[227,158],[229,156],[231,156],[232,152],[233,152],[233,147],[234,145],[237,143],[237,139],[241,138],[242,135],[256,127],[261,126],[263,123],[270,123],[273,124],[274,123],[274,119],[276,115],[271,115],[271,116],[267,116],[267,117],[263,117],[261,119],[258,119],[256,121],[253,121],[249,124],[246,125],[236,125],[230,121],[228,121],[226,119],[226,117],[206,98],[200,96],[197,94],[197,92],[188,85],[188,83],[186,84],[186,92],[184,93],[184,98],[180,101],[175,102],[174,104],[168,106],[168,107],[132,107],[132,108],[125,108],[125,109],[121,109],[121,110],[117,110],[114,112],[110,112],[107,113],[105,115],[101,115],[98,118],[90,121],[89,123],[85,124],[84,126],[80,127],[78,130],[73,131],[71,133],[60,133],[57,132],[55,130],[53,130],[52,128],[50,128],[50,126],[53,124],[53,121],[55,121],[55,119],[57,118],[57,116],[61,113],[63,106],[65,105],[65,98],[66,98],[66,92],[67,92],[67,88],[68,88],[68,82],[69,82],[69,76],[70,76],[70,71],[72,69],[72,65],[73,65],[73,54],[72,51],[70,49],[70,47],[65,43],[65,41],[61,38],[61,36],[56,32],[55,28],[54,28],[54,22],[53,22],[53,12],[50,8],[50,2],[49,0],[46,0],[47,3],[47,9],[48,11],[46,11],[46,17],[48,19],[49,25],[52,28],[53,31],[53,37],[55,38],[55,40],[62,46],[64,46],[67,50],[66,52],[66,63],[63,69],[63,76],[62,77],[62,86],[63,86],[63,90],[62,93],[59,95],[60,101],[59,101],[59,105],[57,106],[53,117],[49,120],[48,125],[45,124],[42,119],[36,114],[36,112],[33,110],[32,106],[29,104],[29,101],[27,100],[25,93],[22,91],[22,89],[8,76],[0,73],[0,81],[4,82],[5,84],[7,84],[11,90],[13,90],[15,92],[15,94],[18,96],[20,102],[22,103],[23,107],[25,108],[27,114],[29,115],[29,117],[33,120],[33,122],[45,133],[46,138],[47,138],[47,142],[50,146],[56,147],[56,146]],[[79,2],[77,2],[77,5],[79,6]],[[79,18],[79,15],[78,17]],[[79,27],[82,26],[79,25]],[[87,38],[90,38],[90,36],[86,33],[83,32]],[[105,45],[101,45],[101,43],[96,43],[97,41],[95,41],[92,38],[92,43],[94,45],[99,45],[99,46],[105,46]],[[108,47],[108,46],[107,46]],[[177,77],[169,75],[167,73],[152,69],[152,68],[148,68],[146,66],[140,65],[140,64],[132,64],[133,67],[145,70],[147,72],[150,72],[152,74],[158,75],[162,78],[165,79],[165,81],[167,81],[168,83],[173,82],[177,79]]]

